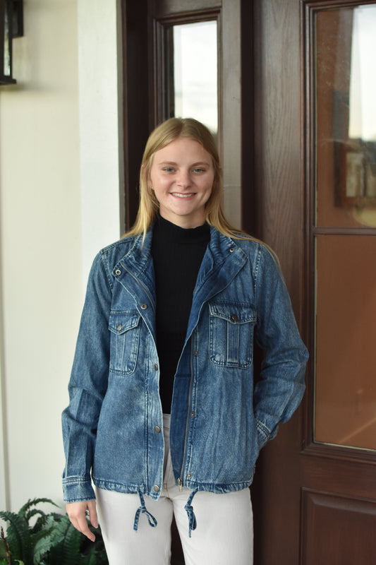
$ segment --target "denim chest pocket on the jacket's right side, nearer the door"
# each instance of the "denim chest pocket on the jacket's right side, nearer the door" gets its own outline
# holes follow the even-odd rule
[[[209,304],[210,360],[222,367],[245,369],[253,362],[256,311],[252,304]]]

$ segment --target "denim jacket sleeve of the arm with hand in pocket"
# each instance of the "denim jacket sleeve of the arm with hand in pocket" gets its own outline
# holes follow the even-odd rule
[[[254,411],[259,447],[277,435],[301,403],[305,391],[308,351],[301,340],[289,292],[277,258],[260,246],[256,264],[255,296],[257,327],[255,338],[265,358],[260,381],[254,391]]]

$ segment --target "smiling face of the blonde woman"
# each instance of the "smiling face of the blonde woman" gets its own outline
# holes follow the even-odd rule
[[[178,138],[154,153],[149,184],[162,218],[180,227],[205,222],[205,204],[212,194],[212,156],[198,143]]]

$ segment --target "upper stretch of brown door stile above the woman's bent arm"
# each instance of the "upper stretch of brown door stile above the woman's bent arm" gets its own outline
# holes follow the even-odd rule
[[[255,2],[257,235],[281,261],[298,302],[301,239],[299,3]]]

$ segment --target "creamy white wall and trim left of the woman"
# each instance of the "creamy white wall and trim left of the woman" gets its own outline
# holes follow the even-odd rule
[[[1,510],[62,502],[83,287],[120,234],[116,4],[25,0],[18,84],[0,87]]]

